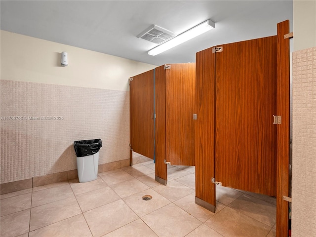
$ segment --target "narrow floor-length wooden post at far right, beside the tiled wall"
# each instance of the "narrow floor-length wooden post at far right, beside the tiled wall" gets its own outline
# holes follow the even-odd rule
[[[277,126],[276,152],[276,236],[288,236],[289,195],[289,20],[277,24],[277,104],[276,114],[282,116]]]

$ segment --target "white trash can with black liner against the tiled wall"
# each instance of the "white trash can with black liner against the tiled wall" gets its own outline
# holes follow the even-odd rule
[[[101,139],[74,141],[80,183],[97,179],[101,147]]]

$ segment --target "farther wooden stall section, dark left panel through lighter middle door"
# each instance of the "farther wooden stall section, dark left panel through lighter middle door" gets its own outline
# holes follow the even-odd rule
[[[130,162],[132,151],[155,157],[156,180],[164,185],[167,163],[195,165],[195,78],[196,64],[184,63],[162,65],[130,81]]]

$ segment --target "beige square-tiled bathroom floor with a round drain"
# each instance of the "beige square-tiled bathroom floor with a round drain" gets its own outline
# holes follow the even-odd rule
[[[275,237],[276,198],[216,187],[212,213],[195,204],[194,166],[153,161],[1,195],[1,237]],[[151,195],[151,200],[143,200]]]

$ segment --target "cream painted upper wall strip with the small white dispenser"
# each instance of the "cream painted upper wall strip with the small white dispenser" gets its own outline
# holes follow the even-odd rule
[[[68,66],[61,67],[61,52]],[[128,78],[156,66],[1,31],[1,79],[129,90]]]

